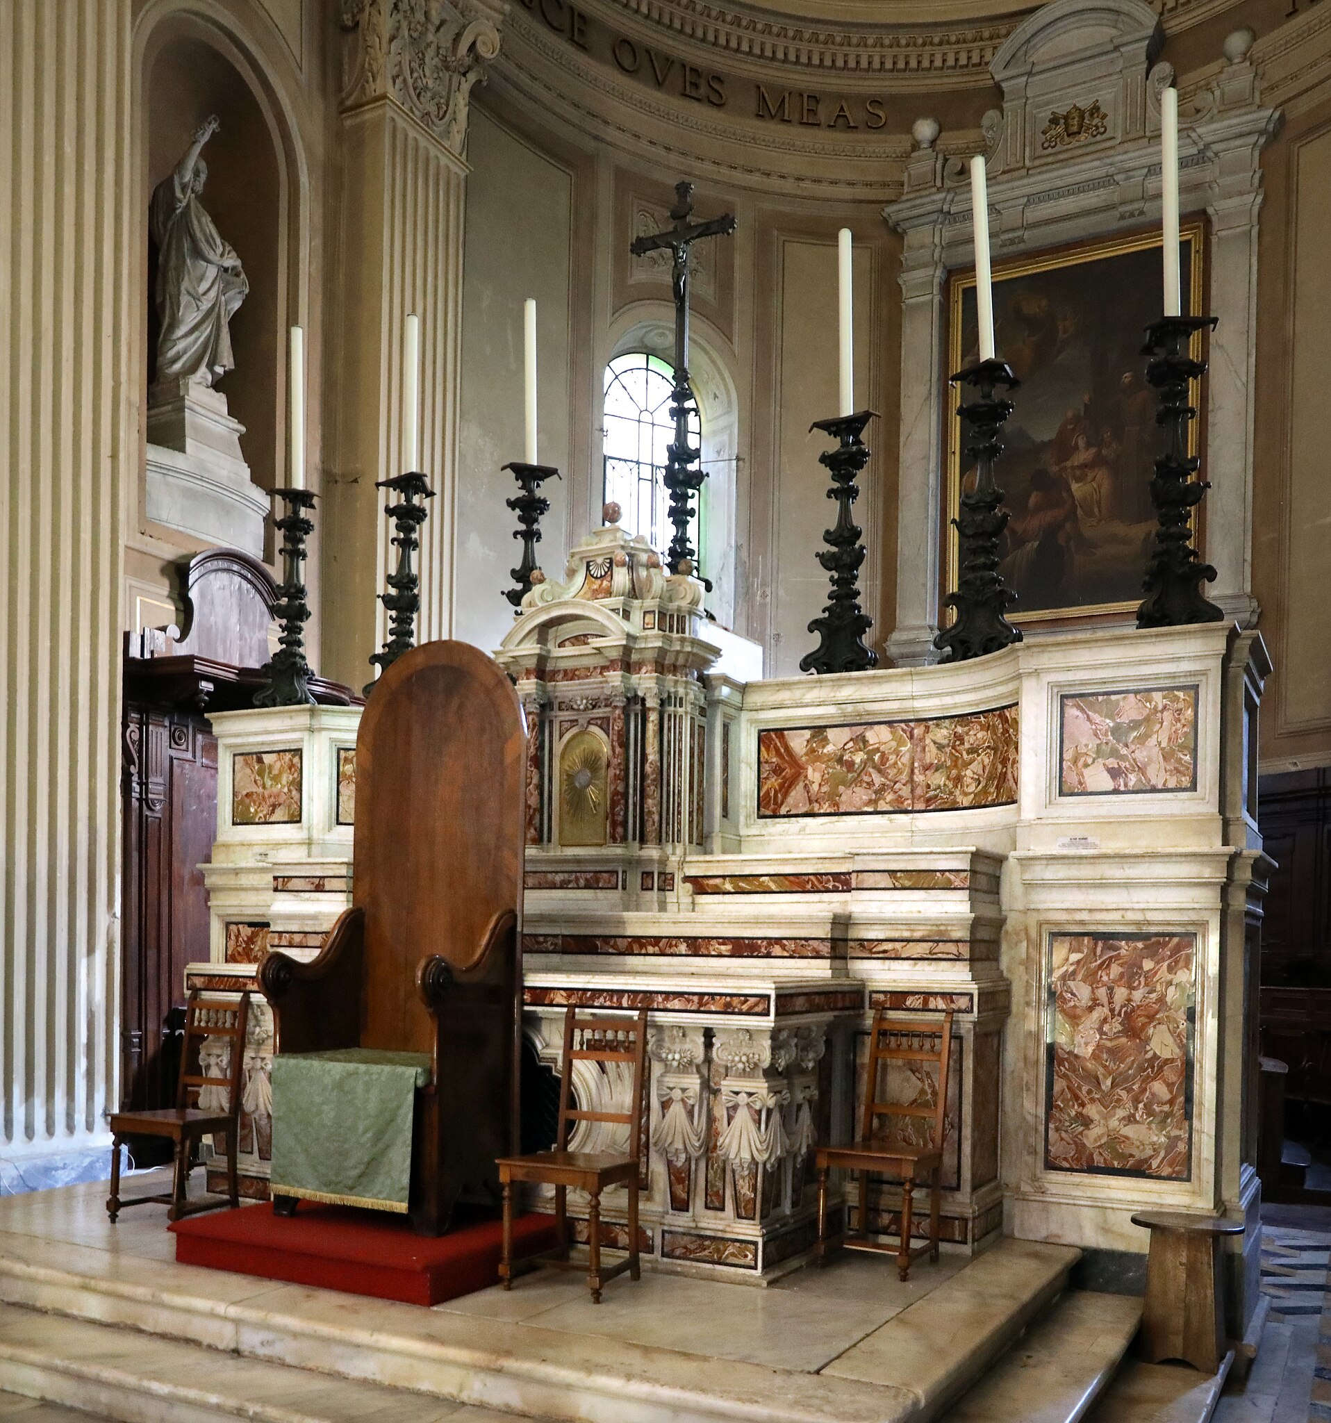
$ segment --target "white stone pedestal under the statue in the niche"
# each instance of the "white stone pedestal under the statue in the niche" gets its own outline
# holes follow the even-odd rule
[[[240,454],[226,396],[192,380],[148,391],[148,518],[263,558],[269,497]]]

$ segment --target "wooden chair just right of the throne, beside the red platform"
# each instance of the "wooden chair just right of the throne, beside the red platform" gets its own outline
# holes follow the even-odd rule
[[[539,1257],[522,1261],[542,1261],[562,1269],[577,1269],[569,1259],[569,1187],[586,1191],[590,1197],[587,1211],[587,1286],[592,1303],[600,1303],[600,1292],[606,1281],[614,1279],[626,1269],[638,1279],[638,1151],[643,1140],[643,1064],[647,1054],[647,1012],[626,1020],[606,1016],[579,1017],[570,1007],[565,1013],[563,1079],[559,1084],[559,1133],[553,1151],[536,1151],[523,1157],[501,1157],[499,1184],[503,1191],[503,1257],[499,1261],[499,1278],[505,1289],[512,1289],[513,1274],[519,1268],[513,1261],[513,1183],[535,1181],[555,1187],[555,1231],[556,1245]],[[633,1064],[633,1087],[627,1111],[592,1111],[572,1106],[573,1063],[596,1063],[594,1072],[604,1072],[600,1064]],[[569,1123],[602,1121],[629,1128],[627,1154],[610,1151],[570,1151]],[[623,1183],[629,1187],[629,1257],[609,1269],[600,1262],[600,1194],[610,1185]]]

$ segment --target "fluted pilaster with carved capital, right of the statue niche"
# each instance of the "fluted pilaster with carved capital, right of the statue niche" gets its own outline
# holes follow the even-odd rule
[[[360,686],[387,636],[388,528],[377,480],[404,472],[402,334],[421,317],[419,642],[452,632],[461,364],[464,148],[472,85],[499,50],[491,0],[350,0],[343,97],[323,672]]]

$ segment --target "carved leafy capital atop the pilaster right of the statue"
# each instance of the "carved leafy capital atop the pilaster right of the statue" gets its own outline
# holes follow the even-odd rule
[[[343,0],[343,108],[387,95],[461,154],[501,16],[485,0]]]

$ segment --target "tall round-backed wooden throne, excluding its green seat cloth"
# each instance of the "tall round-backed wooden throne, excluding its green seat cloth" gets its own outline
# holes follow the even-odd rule
[[[464,642],[400,657],[356,740],[351,908],[317,958],[273,952],[259,975],[277,1054],[429,1056],[408,1205],[422,1234],[459,1197],[498,1204],[495,1158],[519,1147],[525,756],[496,662]]]

